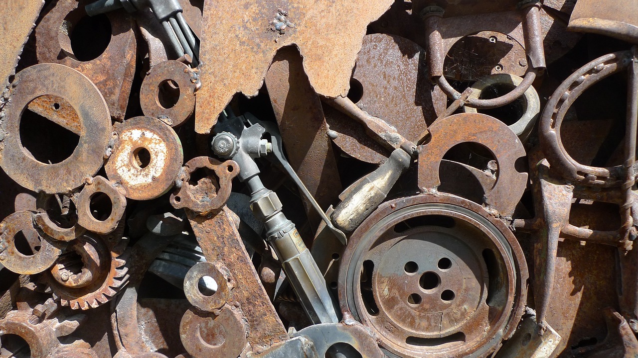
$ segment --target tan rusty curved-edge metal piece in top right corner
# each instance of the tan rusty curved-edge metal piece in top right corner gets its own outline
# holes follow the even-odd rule
[[[638,0],[579,0],[567,27],[638,43]]]

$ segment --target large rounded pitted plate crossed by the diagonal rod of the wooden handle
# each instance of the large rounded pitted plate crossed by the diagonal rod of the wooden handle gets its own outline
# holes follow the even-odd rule
[[[365,36],[348,97],[362,110],[394,126],[406,140],[418,141],[427,125],[445,109],[447,100],[424,78],[425,57],[425,51],[409,39]],[[325,113],[339,148],[362,161],[385,161],[387,151],[371,140],[362,125],[332,108],[325,108]]]

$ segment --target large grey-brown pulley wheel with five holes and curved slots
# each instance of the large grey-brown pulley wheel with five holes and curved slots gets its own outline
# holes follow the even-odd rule
[[[521,247],[503,222],[461,197],[383,204],[352,234],[340,265],[341,309],[390,357],[484,357],[523,313]]]

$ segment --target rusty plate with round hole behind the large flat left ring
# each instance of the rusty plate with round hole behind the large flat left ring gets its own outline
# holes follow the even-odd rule
[[[133,19],[124,10],[88,17],[84,6],[89,3],[60,0],[48,9],[35,30],[38,62],[64,64],[83,73],[100,89],[111,115],[123,120],[137,55]],[[84,33],[73,34],[74,29]]]

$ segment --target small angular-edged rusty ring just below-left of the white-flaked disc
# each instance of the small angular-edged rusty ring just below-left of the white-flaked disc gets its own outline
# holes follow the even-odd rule
[[[101,220],[91,212],[91,200],[96,194],[106,194],[110,199],[110,213]],[[110,234],[115,230],[126,210],[126,197],[103,176],[96,176],[84,185],[77,201],[78,225],[98,234]]]

